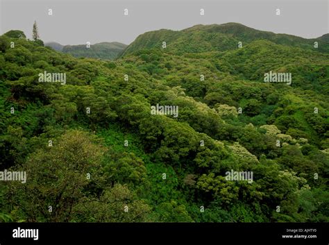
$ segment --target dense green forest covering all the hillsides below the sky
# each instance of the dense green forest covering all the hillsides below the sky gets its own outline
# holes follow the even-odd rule
[[[2,35],[0,171],[27,181],[0,182],[1,221],[328,222],[328,40],[313,42],[194,26],[140,35],[113,62]]]

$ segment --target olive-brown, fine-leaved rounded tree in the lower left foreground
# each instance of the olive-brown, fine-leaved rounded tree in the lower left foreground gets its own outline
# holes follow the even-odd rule
[[[98,169],[103,153],[92,135],[67,131],[52,147],[30,156],[24,166],[26,184],[9,184],[10,205],[27,221],[71,221],[75,205],[88,194],[88,186],[101,182]]]

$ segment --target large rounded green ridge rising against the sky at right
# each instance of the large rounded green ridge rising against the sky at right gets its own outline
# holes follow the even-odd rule
[[[288,34],[258,31],[237,23],[196,25],[182,31],[161,29],[139,35],[124,51],[124,55],[141,49],[162,47],[166,42],[167,52],[202,53],[228,51],[245,46],[256,40],[268,40],[275,44],[299,47],[329,53],[329,34],[314,39],[305,39]],[[314,48],[314,45],[317,46]]]

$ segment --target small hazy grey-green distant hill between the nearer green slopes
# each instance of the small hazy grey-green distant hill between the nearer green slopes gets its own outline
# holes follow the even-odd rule
[[[121,53],[127,47],[126,44],[120,42],[100,42],[90,45],[90,48],[87,48],[85,44],[63,46],[57,42],[49,42],[46,46],[63,53],[69,53],[76,58],[100,58],[103,60],[115,60],[121,56]]]

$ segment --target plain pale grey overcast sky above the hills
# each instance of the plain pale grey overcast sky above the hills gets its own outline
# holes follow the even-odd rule
[[[0,34],[31,38],[36,20],[44,42],[130,44],[146,31],[238,22],[262,31],[319,37],[328,33],[329,0],[0,0]],[[53,15],[48,15],[48,9]],[[128,16],[124,15],[128,8]],[[205,15],[200,15],[200,8]],[[280,16],[276,16],[280,8]]]

